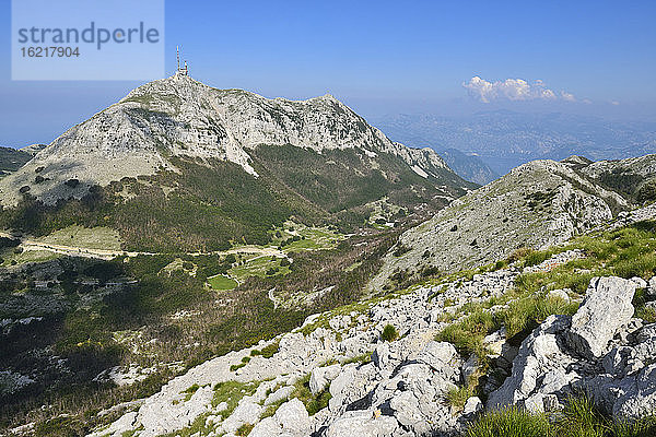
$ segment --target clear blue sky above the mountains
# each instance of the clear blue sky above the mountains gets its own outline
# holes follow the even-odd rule
[[[10,29],[10,1],[0,4]],[[212,86],[289,98],[330,92],[372,117],[551,105],[644,118],[656,114],[654,16],[654,1],[167,0],[166,67],[174,71],[179,44],[191,75]],[[139,85],[12,82],[10,50],[5,31],[0,144],[50,142]],[[462,86],[473,76],[491,84],[490,103]],[[507,98],[507,79],[531,92],[541,80],[557,98]]]

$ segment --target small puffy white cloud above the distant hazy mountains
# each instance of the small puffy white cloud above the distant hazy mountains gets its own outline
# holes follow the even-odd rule
[[[483,103],[496,99],[576,102],[574,94],[564,91],[555,93],[539,79],[530,84],[523,79],[489,82],[477,75],[471,78],[469,82],[464,82],[462,86],[469,91],[471,96]]]

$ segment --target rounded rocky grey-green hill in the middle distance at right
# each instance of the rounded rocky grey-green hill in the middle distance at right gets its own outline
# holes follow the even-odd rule
[[[629,200],[571,162],[534,161],[406,232],[370,287],[378,290],[395,275],[407,277],[425,268],[452,272],[506,258],[522,247],[546,248],[629,206]]]

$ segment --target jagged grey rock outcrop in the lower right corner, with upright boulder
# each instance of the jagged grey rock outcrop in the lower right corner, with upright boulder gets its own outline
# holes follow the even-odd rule
[[[595,277],[573,317],[550,316],[524,342],[512,375],[488,408],[534,412],[562,408],[585,392],[616,417],[641,417],[656,406],[656,323],[632,319],[635,281]]]

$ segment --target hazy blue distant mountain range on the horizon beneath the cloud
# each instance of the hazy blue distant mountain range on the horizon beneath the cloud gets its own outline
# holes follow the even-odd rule
[[[620,160],[656,152],[656,122],[509,110],[468,117],[397,115],[373,121],[395,141],[476,154],[501,175],[534,160],[563,160],[570,155]]]

